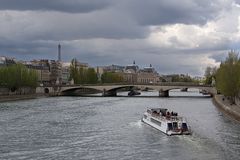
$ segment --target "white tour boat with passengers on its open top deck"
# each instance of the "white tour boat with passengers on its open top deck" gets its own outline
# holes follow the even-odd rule
[[[165,108],[147,109],[142,121],[169,136],[191,134],[186,119],[179,117],[177,113],[169,112]]]

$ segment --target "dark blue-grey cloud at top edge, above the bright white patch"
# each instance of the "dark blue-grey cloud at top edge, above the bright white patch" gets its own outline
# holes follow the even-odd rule
[[[123,8],[140,25],[205,24],[222,9],[218,0],[124,0]]]

